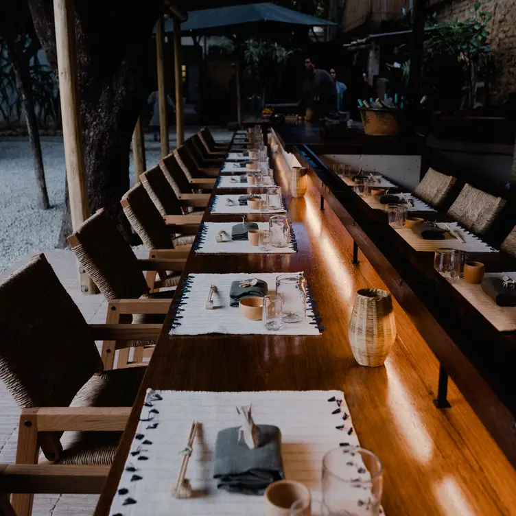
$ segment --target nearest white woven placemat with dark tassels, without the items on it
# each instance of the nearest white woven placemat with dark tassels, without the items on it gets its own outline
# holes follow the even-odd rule
[[[227,493],[213,479],[220,430],[239,426],[235,407],[253,406],[255,423],[281,431],[285,478],[314,490],[312,515],[320,515],[322,457],[336,447],[360,445],[340,390],[191,392],[149,389],[110,516],[262,516],[263,497]],[[186,477],[195,497],[172,497],[193,421],[199,423]],[[345,446],[344,446],[345,445]],[[363,463],[349,455],[349,473],[366,480]],[[344,456],[344,452],[343,452]],[[346,489],[346,488],[344,488]],[[348,489],[368,499],[368,491]],[[355,516],[371,515],[357,504]]]

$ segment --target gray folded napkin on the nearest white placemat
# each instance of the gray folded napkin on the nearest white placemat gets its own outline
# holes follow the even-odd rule
[[[281,432],[272,425],[258,425],[260,445],[249,449],[238,442],[238,428],[221,430],[215,443],[213,478],[218,489],[244,495],[263,495],[267,486],[285,478],[281,458]]]

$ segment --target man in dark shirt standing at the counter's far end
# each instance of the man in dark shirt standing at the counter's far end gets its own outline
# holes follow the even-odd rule
[[[305,59],[305,73],[301,97],[305,119],[316,120],[335,111],[337,91],[331,75],[326,70],[316,68],[311,58]]]

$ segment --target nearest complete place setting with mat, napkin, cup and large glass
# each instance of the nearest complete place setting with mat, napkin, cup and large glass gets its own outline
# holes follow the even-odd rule
[[[340,390],[148,389],[109,514],[377,516],[383,476]]]

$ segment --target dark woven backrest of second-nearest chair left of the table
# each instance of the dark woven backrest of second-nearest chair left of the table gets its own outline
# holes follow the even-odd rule
[[[137,257],[104,209],[85,220],[68,242],[106,299],[137,299],[149,292]]]

